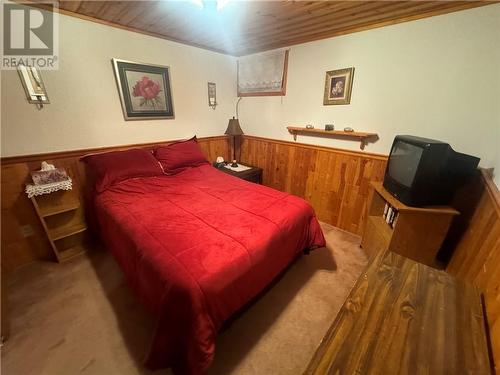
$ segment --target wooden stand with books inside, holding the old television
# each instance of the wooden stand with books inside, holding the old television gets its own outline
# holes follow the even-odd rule
[[[436,254],[451,221],[460,213],[452,207],[410,207],[394,198],[381,182],[372,182],[361,247],[372,259],[390,250],[417,262],[436,267]],[[384,219],[386,203],[397,212],[392,227]]]

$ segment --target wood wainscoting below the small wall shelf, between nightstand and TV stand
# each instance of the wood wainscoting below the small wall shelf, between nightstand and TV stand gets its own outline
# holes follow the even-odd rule
[[[361,234],[370,181],[387,156],[244,136],[241,161],[263,168],[263,184],[309,201],[318,219]]]

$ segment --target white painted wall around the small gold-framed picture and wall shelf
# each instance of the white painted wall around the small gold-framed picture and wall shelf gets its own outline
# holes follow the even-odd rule
[[[351,66],[351,104],[324,106],[325,72]],[[286,96],[243,98],[239,114],[246,133],[284,140],[286,126],[308,123],[375,132],[365,151],[383,154],[397,134],[447,141],[497,166],[500,183],[500,5],[292,46]]]

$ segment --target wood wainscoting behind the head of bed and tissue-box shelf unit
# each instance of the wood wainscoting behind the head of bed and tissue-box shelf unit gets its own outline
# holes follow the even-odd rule
[[[208,160],[215,160],[219,155],[229,159],[228,141],[226,136],[198,139]],[[80,158],[83,155],[128,148],[153,149],[157,145],[172,142],[174,141],[2,158],[2,270],[9,272],[33,260],[53,257],[35,208],[24,193],[25,184],[31,179],[30,172],[40,169],[43,160],[66,169],[73,179],[74,189],[82,193],[85,169]]]

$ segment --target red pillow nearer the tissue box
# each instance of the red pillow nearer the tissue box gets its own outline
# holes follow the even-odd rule
[[[151,152],[142,149],[112,151],[81,158],[94,177],[95,190],[102,193],[114,183],[134,178],[161,176],[163,171]]]

